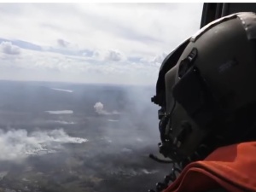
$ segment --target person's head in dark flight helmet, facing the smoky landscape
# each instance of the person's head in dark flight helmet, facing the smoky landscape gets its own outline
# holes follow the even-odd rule
[[[160,67],[160,152],[186,165],[214,149],[256,140],[256,15],[215,20]]]

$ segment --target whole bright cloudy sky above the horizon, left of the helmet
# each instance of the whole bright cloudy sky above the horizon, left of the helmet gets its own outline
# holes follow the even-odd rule
[[[0,3],[0,79],[155,84],[203,3]]]

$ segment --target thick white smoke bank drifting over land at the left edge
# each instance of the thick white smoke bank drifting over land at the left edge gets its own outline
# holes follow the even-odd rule
[[[70,137],[62,129],[51,131],[0,130],[0,160],[20,160],[28,155],[53,153],[63,143],[84,143],[87,139]]]

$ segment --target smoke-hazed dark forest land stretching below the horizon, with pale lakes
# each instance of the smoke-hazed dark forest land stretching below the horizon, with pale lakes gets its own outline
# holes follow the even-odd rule
[[[147,191],[153,87],[0,81],[0,191]],[[171,167],[170,167],[171,169]]]

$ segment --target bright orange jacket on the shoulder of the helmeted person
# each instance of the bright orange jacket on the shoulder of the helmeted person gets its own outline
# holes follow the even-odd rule
[[[216,149],[205,160],[186,166],[165,192],[206,192],[219,187],[256,192],[256,142]]]

